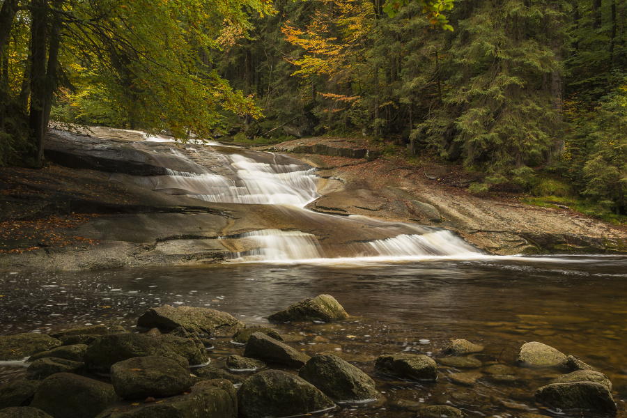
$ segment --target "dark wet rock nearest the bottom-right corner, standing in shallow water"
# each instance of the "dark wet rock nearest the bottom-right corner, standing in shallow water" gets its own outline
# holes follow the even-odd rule
[[[552,383],[536,390],[534,398],[560,410],[617,411],[610,390],[596,382]]]

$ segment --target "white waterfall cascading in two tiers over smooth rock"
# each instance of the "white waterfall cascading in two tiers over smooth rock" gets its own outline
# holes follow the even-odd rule
[[[245,151],[218,153],[187,148],[192,155],[171,149],[155,159],[167,167],[167,176],[155,176],[153,189],[216,203],[248,203],[283,208],[286,217],[302,217],[310,224],[325,225],[345,242],[302,231],[263,229],[221,240],[233,248],[232,261],[294,262],[346,258],[389,260],[435,256],[481,256],[481,252],[444,229],[415,224],[384,222],[361,216],[324,215],[304,206],[317,199],[316,169],[294,164],[293,159],[271,153]],[[245,155],[242,155],[245,153]],[[348,243],[347,243],[348,242]]]

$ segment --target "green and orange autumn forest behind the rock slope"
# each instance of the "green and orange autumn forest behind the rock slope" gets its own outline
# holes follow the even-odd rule
[[[627,0],[3,0],[0,165],[50,120],[365,137],[627,214]]]

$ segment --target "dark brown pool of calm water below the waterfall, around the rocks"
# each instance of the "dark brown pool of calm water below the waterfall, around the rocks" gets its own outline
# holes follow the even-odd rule
[[[538,373],[516,369],[520,381],[504,386],[489,378],[490,362],[511,363],[526,341],[541,341],[603,371],[614,383],[619,417],[627,416],[626,257],[236,264],[20,273],[0,279],[2,334],[101,322],[132,327],[145,309],[162,304],[211,307],[247,325],[267,324],[266,316],[288,304],[328,293],[354,317],[338,325],[279,327],[310,355],[341,353],[371,373],[373,359],[382,353],[437,358],[457,338],[486,346],[477,356],[486,379],[472,389],[452,382],[459,370],[444,367],[435,385],[380,378],[378,387],[391,400],[386,409],[343,410],[336,416],[410,417],[415,412],[393,406],[421,400],[448,402],[472,417],[517,417],[525,410],[550,415],[530,398],[535,387],[546,382]],[[318,335],[328,342],[314,341]],[[240,354],[238,350],[228,341],[218,341],[212,353],[215,364],[224,354]],[[0,370],[5,373],[0,380],[19,373],[15,366]]]

